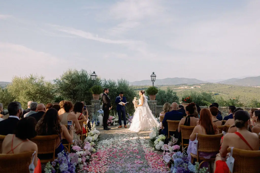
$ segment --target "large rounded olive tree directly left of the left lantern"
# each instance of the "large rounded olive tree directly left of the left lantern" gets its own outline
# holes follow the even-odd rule
[[[92,93],[90,88],[93,86],[93,82],[90,73],[86,70],[67,70],[54,82],[57,94],[65,100],[85,101],[87,105],[91,105]],[[94,84],[101,86],[101,79],[97,78]]]

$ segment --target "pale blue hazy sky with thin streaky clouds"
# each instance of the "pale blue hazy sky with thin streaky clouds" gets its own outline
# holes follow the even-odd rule
[[[260,1],[1,1],[0,81],[260,75]]]

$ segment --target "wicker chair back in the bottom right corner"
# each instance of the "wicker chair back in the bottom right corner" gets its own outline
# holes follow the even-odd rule
[[[231,148],[228,148],[230,152]],[[232,156],[235,158],[233,173],[259,173],[260,151],[241,150],[233,148]]]

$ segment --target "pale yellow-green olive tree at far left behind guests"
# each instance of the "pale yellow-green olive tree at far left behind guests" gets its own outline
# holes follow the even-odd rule
[[[38,103],[52,103],[54,101],[53,84],[44,80],[43,76],[30,75],[25,77],[14,77],[7,87],[12,101],[18,101],[23,108],[27,108],[27,102],[32,100]],[[8,100],[11,102],[11,99]]]

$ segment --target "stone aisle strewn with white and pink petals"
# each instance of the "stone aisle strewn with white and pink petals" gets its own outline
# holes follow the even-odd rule
[[[149,145],[149,133],[131,132],[128,128],[109,126],[100,131],[96,152],[91,155],[85,168],[88,172],[170,172],[163,161],[162,152]]]

